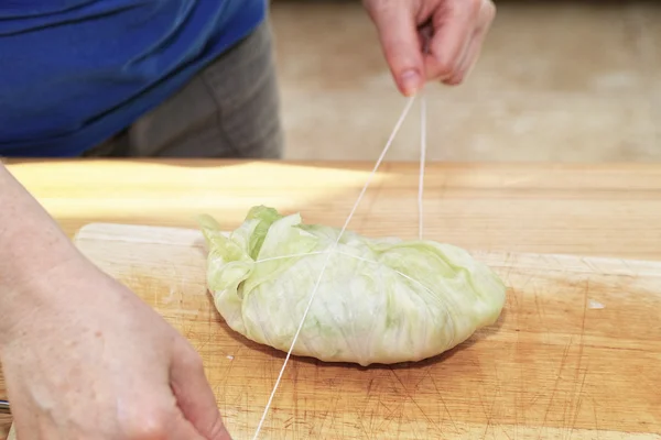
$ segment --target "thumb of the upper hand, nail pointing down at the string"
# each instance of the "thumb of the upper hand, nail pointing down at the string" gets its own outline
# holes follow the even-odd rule
[[[415,16],[408,1],[366,2],[399,90],[412,96],[424,85],[424,64]]]

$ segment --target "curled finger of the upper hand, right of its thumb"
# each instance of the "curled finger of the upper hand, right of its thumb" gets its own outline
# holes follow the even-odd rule
[[[433,18],[434,35],[425,57],[427,79],[446,81],[455,75],[468,52],[479,19],[483,0],[446,2]]]

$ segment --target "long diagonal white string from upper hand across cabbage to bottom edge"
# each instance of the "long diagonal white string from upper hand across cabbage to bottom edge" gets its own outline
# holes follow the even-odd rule
[[[379,169],[379,166],[381,165],[381,163],[383,162],[383,158],[386,157],[386,154],[388,153],[388,150],[390,150],[390,145],[392,145],[392,142],[394,141],[394,136],[397,135],[397,133],[399,132],[402,123],[404,122],[404,119],[407,119],[407,114],[409,114],[409,110],[411,110],[411,106],[413,105],[413,101],[415,100],[415,97],[409,98],[409,102],[407,103],[407,106],[404,107],[404,110],[402,111],[402,114],[400,116],[399,120],[397,121],[394,129],[392,130],[392,133],[390,134],[390,139],[388,139],[388,142],[386,143],[386,146],[383,147],[383,151],[381,152],[381,155],[379,156],[379,158],[377,160],[377,163],[373,167],[373,169],[371,170],[370,175],[367,177],[367,182],[365,183],[365,186],[362,187],[362,190],[360,191],[360,195],[358,196],[358,199],[356,200],[356,202],[354,204],[354,207],[351,208],[351,211],[349,212],[349,217],[347,217],[345,224],[342,228],[342,231],[339,232],[339,235],[337,235],[337,240],[335,241],[335,244],[333,245],[333,248],[330,248],[329,251],[335,250],[335,248],[337,248],[337,245],[339,244],[339,240],[342,239],[342,235],[345,233],[349,222],[351,221],[351,218],[354,217],[354,215],[356,213],[356,209],[358,208],[358,205],[360,204],[360,201],[362,200],[362,197],[365,196],[365,193],[367,191],[367,188],[369,187],[369,184],[371,183],[371,179],[373,178],[373,176],[377,174],[377,170]],[[273,391],[271,392],[271,396],[269,397],[269,402],[267,403],[267,407],[264,408],[264,411],[262,414],[262,417],[259,421],[259,425],[257,426],[257,430],[254,431],[254,436],[252,436],[252,440],[257,440],[259,432],[262,429],[262,426],[264,424],[264,420],[267,418],[267,415],[269,413],[269,408],[271,407],[271,403],[273,402],[273,396],[275,395],[275,392],[278,391],[278,386],[280,385],[280,381],[282,380],[282,375],[284,373],[284,369],[286,367],[286,364],[290,360],[290,356],[292,354],[292,351],[294,351],[294,346],[296,344],[296,340],[299,339],[299,334],[301,333],[301,329],[303,328],[303,323],[305,322],[305,318],[307,318],[307,314],[310,312],[310,308],[312,306],[312,301],[314,300],[316,293],[319,288],[319,284],[322,280],[322,277],[324,276],[324,273],[326,272],[326,267],[328,266],[328,261],[330,260],[330,255],[333,254],[333,252],[328,252],[328,256],[326,257],[326,261],[324,262],[324,265],[322,266],[322,271],[319,273],[319,276],[314,285],[314,288],[312,290],[312,294],[310,295],[310,300],[307,301],[307,306],[305,307],[305,311],[303,312],[303,319],[301,319],[301,323],[299,324],[299,329],[296,330],[296,333],[294,334],[294,340],[292,341],[292,344],[286,353],[286,356],[284,358],[284,363],[282,364],[282,369],[280,370],[280,374],[278,375],[278,380],[275,381],[275,385],[273,386]]]

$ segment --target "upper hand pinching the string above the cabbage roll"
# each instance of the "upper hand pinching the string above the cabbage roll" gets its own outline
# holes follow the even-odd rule
[[[460,84],[477,62],[496,15],[491,0],[364,0],[364,4],[405,96],[415,95],[426,80]]]

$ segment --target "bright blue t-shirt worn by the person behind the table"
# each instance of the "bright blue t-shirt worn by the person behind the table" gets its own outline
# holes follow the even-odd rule
[[[267,0],[0,0],[0,155],[75,156],[253,31]]]

